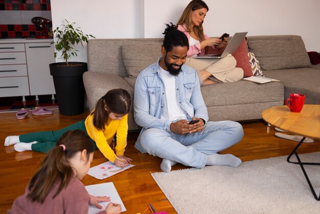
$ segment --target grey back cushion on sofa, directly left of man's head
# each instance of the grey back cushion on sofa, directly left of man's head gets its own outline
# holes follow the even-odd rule
[[[121,46],[122,60],[129,77],[138,77],[139,72],[161,57],[162,42],[124,44]]]

